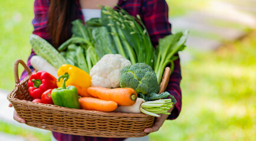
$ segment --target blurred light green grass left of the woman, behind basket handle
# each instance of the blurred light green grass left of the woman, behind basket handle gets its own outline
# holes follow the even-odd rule
[[[0,89],[14,88],[14,62],[21,58],[27,62],[31,51],[28,39],[32,33],[33,1],[1,1],[0,15]],[[21,74],[22,66],[19,66]]]

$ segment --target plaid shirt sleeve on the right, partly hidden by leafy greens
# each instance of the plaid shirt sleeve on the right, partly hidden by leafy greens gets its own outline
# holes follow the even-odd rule
[[[160,38],[171,34],[171,24],[168,21],[168,5],[165,0],[145,0],[142,6],[142,20],[149,32],[150,39],[153,46],[158,44]],[[178,54],[176,54],[178,56]],[[178,56],[179,57],[179,56]],[[166,91],[173,95],[177,100],[175,108],[173,109],[168,119],[176,119],[179,116],[182,96],[180,90],[180,80],[182,76],[180,73],[179,58],[174,61],[174,70],[170,76]]]

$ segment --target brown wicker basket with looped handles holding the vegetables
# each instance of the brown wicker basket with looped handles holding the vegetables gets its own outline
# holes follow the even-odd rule
[[[28,72],[28,76],[21,82],[18,76],[19,63]],[[165,73],[163,77],[165,86],[161,85],[162,91],[168,83],[168,74],[170,73]],[[25,119],[29,126],[94,137],[142,137],[148,134],[143,132],[144,129],[153,126],[155,117],[143,113],[100,112],[31,102],[27,85],[30,75],[31,70],[18,59],[14,64],[15,88],[7,96],[18,115]]]

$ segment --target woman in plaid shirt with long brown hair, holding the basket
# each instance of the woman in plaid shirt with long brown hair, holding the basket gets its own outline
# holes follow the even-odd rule
[[[34,25],[33,33],[41,36],[57,48],[61,43],[71,37],[71,21],[82,19],[84,22],[90,18],[100,16],[100,7],[97,5],[107,5],[114,7],[118,5],[126,10],[130,15],[140,15],[153,46],[157,45],[160,38],[170,34],[170,23],[168,22],[168,5],[165,0],[35,0],[34,13],[35,18],[32,21]],[[30,64],[31,56],[35,55],[31,51],[28,58],[28,65],[31,70],[34,70]],[[175,97],[177,103],[169,110],[171,115],[161,115],[157,117],[155,126],[145,129],[145,132],[152,133],[159,130],[166,119],[176,119],[181,108],[181,92],[180,92],[180,63],[179,59],[175,62],[175,69],[170,76],[168,91]],[[21,79],[27,76],[27,72],[23,72]],[[11,105],[10,105],[11,106]],[[16,112],[14,119],[18,122],[25,123]],[[74,135],[64,135],[62,133],[52,132],[57,140],[124,140],[123,138],[104,138],[104,137],[83,137]]]

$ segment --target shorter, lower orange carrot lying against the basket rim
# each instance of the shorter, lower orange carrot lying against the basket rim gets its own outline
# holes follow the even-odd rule
[[[83,97],[79,98],[80,108],[85,110],[100,110],[103,112],[111,112],[117,108],[117,103],[97,98]]]

